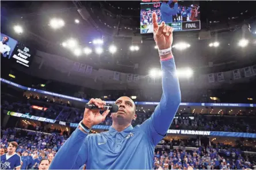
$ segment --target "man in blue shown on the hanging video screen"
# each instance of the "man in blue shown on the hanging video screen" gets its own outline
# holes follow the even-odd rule
[[[178,2],[174,3],[173,9],[170,7],[171,2],[173,1],[163,1],[160,7],[162,21],[164,21],[166,24],[173,22],[173,16],[177,15],[178,13]]]

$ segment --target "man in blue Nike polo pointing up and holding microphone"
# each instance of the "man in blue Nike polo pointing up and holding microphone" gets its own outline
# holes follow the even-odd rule
[[[152,169],[156,144],[166,136],[181,102],[181,91],[171,44],[173,28],[157,23],[152,14],[154,40],[162,65],[163,94],[159,105],[149,119],[132,127],[136,119],[135,103],[122,96],[116,101],[117,113],[112,113],[113,124],[108,132],[89,134],[91,127],[105,120],[109,110],[100,114],[98,110],[85,109],[78,128],[56,153],[49,169]],[[105,105],[101,99],[91,99],[98,108]]]

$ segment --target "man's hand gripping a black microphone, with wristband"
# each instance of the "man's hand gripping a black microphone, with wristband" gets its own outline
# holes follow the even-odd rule
[[[81,123],[79,123],[79,129],[83,132],[88,133],[85,129],[91,129],[94,125],[98,125],[101,122],[104,122],[106,116],[110,113],[110,111],[116,112],[119,110],[117,105],[106,105],[105,101],[101,99],[90,99],[90,101],[85,106],[85,112],[83,113],[83,119]],[[105,110],[104,113],[100,113],[100,110]],[[81,125],[85,125],[85,129],[81,127]]]

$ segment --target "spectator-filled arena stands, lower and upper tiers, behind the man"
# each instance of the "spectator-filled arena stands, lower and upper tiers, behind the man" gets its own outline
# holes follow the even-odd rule
[[[125,94],[120,92],[118,95]],[[196,101],[208,101],[208,97],[200,95],[202,96],[201,100],[198,101],[200,99],[198,97]],[[86,95],[85,97],[87,98],[88,96]],[[114,100],[116,97],[116,95],[110,96],[108,97],[109,100]],[[83,108],[72,106],[72,102],[54,102],[37,95],[22,96],[22,92],[17,93],[9,90],[1,93],[1,99],[1,113],[3,110],[7,110],[73,123],[78,123],[83,116]],[[154,99],[147,97],[143,97],[143,99],[154,101]],[[185,98],[184,100],[187,99],[190,100],[191,98]],[[32,105],[47,107],[47,110],[33,109]],[[141,124],[151,114],[152,111],[144,113],[138,110],[137,119],[132,122],[132,125]],[[241,115],[177,113],[170,129],[256,133],[255,119],[246,117],[246,115],[251,116],[255,115],[255,113],[244,112]],[[19,123],[17,124],[16,127],[26,130],[1,128],[1,148],[6,149],[7,142],[17,141],[19,144],[17,153],[21,155],[22,161],[27,162],[26,167],[22,167],[22,169],[37,169],[40,159],[47,157],[49,153],[55,154],[58,152],[60,146],[63,145],[72,130],[74,130],[71,128],[71,132],[63,132],[60,129],[46,128],[43,124],[39,125],[24,127]],[[112,119],[109,115],[100,125],[112,125]],[[189,149],[191,147],[194,149]],[[244,154],[242,152],[244,150],[254,151],[253,148],[243,144],[231,146],[212,143],[212,146],[199,146],[198,140],[194,138],[185,141],[173,139],[161,142],[155,148],[154,169],[188,169],[188,166],[192,166],[194,169],[253,169],[256,166],[256,158]]]

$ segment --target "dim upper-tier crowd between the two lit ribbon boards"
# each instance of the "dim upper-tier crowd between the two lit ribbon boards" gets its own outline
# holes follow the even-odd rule
[[[78,123],[83,117],[83,109],[57,105],[56,103],[45,103],[46,99],[38,101],[36,98],[18,98],[2,95],[1,109],[36,115],[39,117],[57,119],[64,122]],[[37,106],[47,107],[47,110],[33,109],[32,103]],[[148,119],[152,111],[137,111],[137,119],[132,122],[133,126],[139,125]],[[194,119],[190,119],[193,117]],[[192,129],[192,130],[208,130],[208,131],[224,131],[224,132],[246,132],[256,133],[255,118],[239,117],[239,116],[214,116],[197,113],[177,114],[171,124],[171,129]],[[100,125],[112,125],[112,119],[108,115],[104,122]]]

